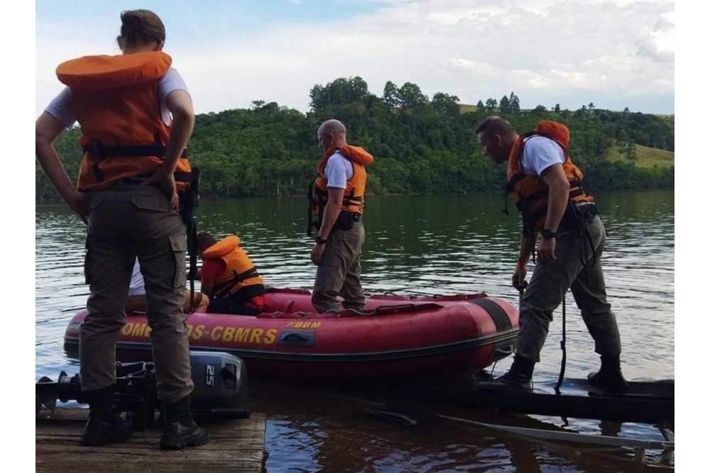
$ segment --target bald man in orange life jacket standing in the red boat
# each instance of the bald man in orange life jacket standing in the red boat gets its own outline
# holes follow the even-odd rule
[[[318,235],[311,261],[318,269],[311,301],[315,309],[365,310],[360,282],[360,256],[365,241],[362,211],[367,172],[374,158],[364,148],[346,143],[345,126],[337,120],[318,128],[324,151],[318,164],[311,211],[318,218]],[[338,296],[342,296],[342,307]]]

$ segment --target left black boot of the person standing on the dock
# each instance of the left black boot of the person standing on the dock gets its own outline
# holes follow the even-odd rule
[[[84,391],[89,401],[89,421],[84,427],[82,445],[121,443],[133,437],[133,425],[124,421],[114,409],[114,386]]]

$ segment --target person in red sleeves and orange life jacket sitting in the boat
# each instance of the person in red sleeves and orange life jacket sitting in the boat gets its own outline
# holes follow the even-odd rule
[[[207,232],[197,233],[197,251],[202,258],[201,291],[209,297],[208,313],[258,316],[267,310],[266,289],[239,237],[222,240]]]

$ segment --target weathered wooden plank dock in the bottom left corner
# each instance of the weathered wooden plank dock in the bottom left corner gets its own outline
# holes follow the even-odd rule
[[[162,429],[157,425],[133,433],[126,443],[85,447],[79,438],[87,422],[86,408],[43,409],[35,422],[37,472],[263,473],[266,416],[200,421],[210,443],[185,450],[160,450]]]

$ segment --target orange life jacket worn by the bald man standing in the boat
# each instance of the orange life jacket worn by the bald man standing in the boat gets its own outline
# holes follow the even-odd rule
[[[330,157],[337,151],[342,152],[342,154],[353,163],[353,176],[346,182],[341,209],[343,211],[362,213],[362,209],[365,206],[365,183],[367,182],[365,166],[371,164],[375,158],[360,146],[344,145],[340,148],[332,147],[326,150],[323,157],[320,159],[318,172],[313,182],[315,189],[309,192],[310,218],[312,218],[312,216],[320,217],[325,204],[327,204],[328,181],[324,176],[325,165],[327,165]],[[320,226],[320,223],[318,223],[317,226]]]

